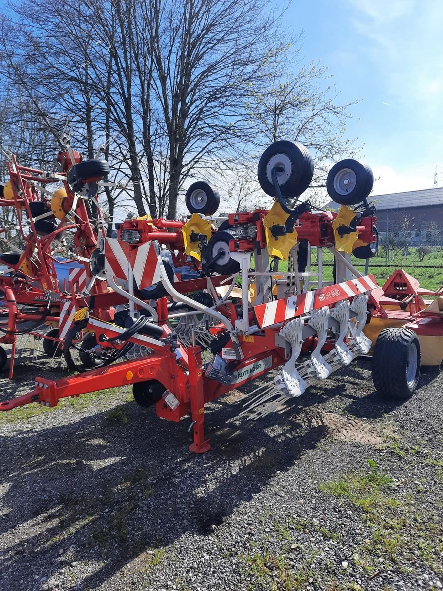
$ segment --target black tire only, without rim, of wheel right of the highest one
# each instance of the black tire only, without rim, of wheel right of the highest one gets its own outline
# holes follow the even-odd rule
[[[335,190],[334,179],[337,177],[338,173],[345,169],[353,171],[356,176],[356,184],[352,190],[342,194]],[[372,191],[373,184],[374,175],[367,164],[360,162],[359,160],[355,160],[355,158],[345,158],[344,160],[337,162],[337,164],[334,164],[334,166],[329,171],[326,181],[326,189],[328,191],[328,195],[335,203],[351,206],[357,205],[357,203],[361,203],[364,199],[366,199],[366,197],[368,197],[369,193]]]

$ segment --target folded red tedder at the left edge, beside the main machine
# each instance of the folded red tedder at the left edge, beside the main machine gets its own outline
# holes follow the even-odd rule
[[[43,339],[48,356],[61,355],[76,310],[87,306],[91,296],[107,291],[106,283],[100,281],[104,277],[91,272],[91,261],[98,252],[100,217],[94,229],[89,204],[97,205],[98,182],[109,173],[108,163],[98,158],[82,161],[67,142],[56,165],[56,171],[35,170],[19,165],[11,155],[10,180],[1,187],[0,206],[15,213],[11,226],[0,228],[4,247],[0,264],[9,268],[0,276],[4,303],[0,342],[11,345],[10,378],[19,336],[32,335],[39,343]],[[58,188],[49,190],[51,184],[58,184]],[[8,240],[11,228],[22,249]],[[67,255],[63,262],[57,259],[61,254]],[[58,281],[56,265],[62,264],[70,270],[66,280]],[[72,264],[76,268],[71,268]],[[104,313],[108,320],[112,319],[109,311],[109,307],[102,310],[95,306],[95,313]],[[6,350],[0,346],[0,371],[6,362]]]

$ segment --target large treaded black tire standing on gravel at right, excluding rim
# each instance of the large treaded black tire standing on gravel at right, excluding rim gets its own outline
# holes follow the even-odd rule
[[[413,347],[417,353],[417,371],[408,384],[406,372]],[[387,400],[410,398],[418,385],[420,365],[420,342],[415,332],[402,327],[380,332],[372,354],[372,379],[380,396]]]

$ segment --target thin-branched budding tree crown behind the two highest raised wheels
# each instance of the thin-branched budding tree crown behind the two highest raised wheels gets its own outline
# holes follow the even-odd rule
[[[280,44],[266,54],[260,66],[263,76],[250,87],[249,121],[260,130],[255,145],[292,139],[304,144],[314,157],[313,185],[325,187],[331,161],[355,154],[346,138],[346,120],[358,101],[340,104],[338,92],[321,63],[304,64],[295,44]],[[295,46],[295,48],[294,48]]]

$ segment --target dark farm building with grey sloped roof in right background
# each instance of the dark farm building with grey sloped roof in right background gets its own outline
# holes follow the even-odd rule
[[[443,246],[443,187],[369,196],[377,208],[377,228],[408,246]],[[329,203],[337,210],[335,203]]]

